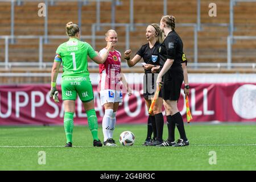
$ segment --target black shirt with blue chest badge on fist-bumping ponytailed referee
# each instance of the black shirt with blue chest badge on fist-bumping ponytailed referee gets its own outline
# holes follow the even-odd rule
[[[159,47],[160,44],[158,42],[155,43],[154,47],[150,48],[149,43],[144,44],[139,51],[136,53],[137,55],[141,56],[146,64],[152,65],[160,65],[159,63]],[[151,73],[150,70],[146,70],[145,73]]]

